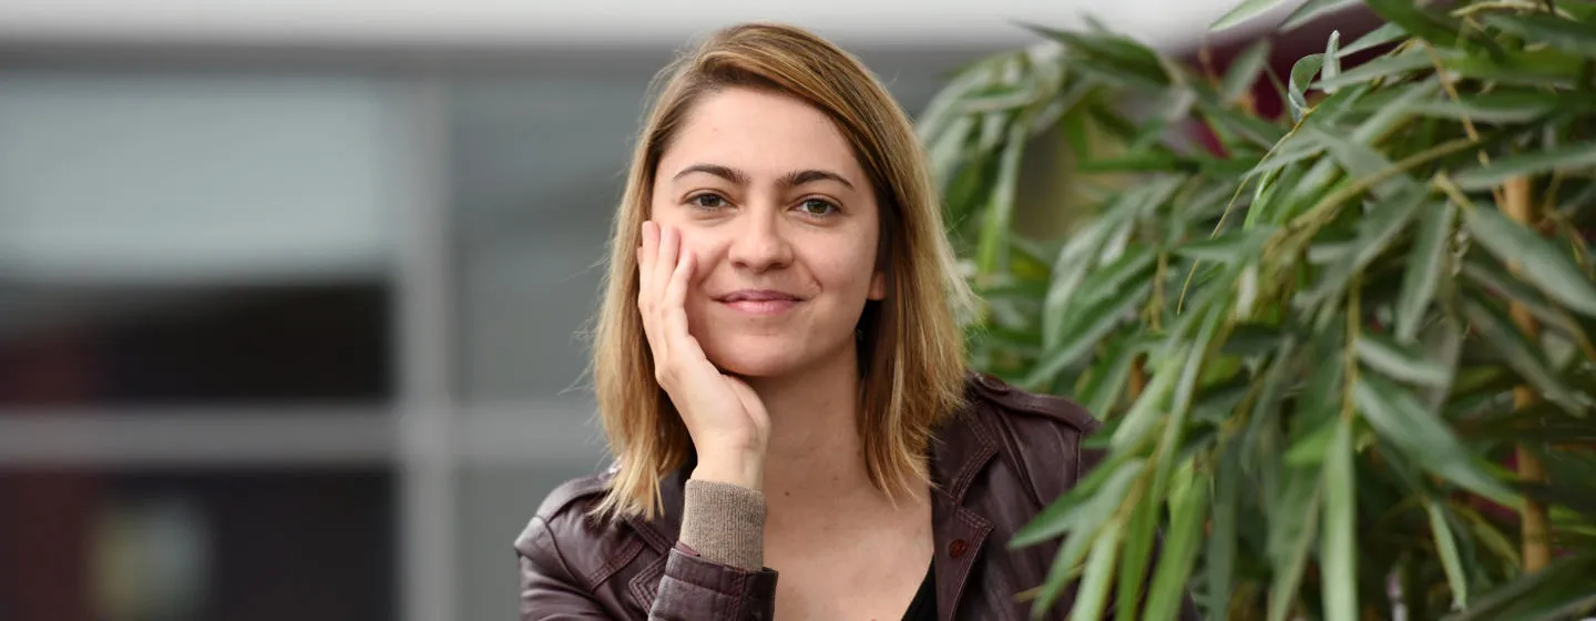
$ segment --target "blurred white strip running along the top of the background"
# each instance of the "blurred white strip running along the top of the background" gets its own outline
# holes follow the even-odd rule
[[[0,38],[251,45],[677,45],[788,21],[847,43],[1009,45],[1015,21],[1092,14],[1159,46],[1197,42],[1238,0],[0,0]]]

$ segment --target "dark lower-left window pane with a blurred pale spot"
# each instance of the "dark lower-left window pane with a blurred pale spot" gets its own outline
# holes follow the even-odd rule
[[[391,619],[393,479],[0,473],[0,618]]]

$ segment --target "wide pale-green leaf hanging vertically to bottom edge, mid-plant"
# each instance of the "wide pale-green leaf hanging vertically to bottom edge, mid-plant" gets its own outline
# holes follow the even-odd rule
[[[1320,578],[1325,619],[1358,619],[1358,508],[1352,469],[1352,421],[1336,426],[1325,460],[1325,536],[1320,540]]]

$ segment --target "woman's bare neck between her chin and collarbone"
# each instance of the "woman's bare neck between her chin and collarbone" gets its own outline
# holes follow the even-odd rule
[[[764,495],[785,504],[873,492],[859,436],[859,367],[838,362],[782,377],[747,378],[771,417]]]

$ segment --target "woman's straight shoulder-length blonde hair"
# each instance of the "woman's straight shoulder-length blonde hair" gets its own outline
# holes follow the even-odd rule
[[[871,484],[897,495],[929,481],[932,428],[964,394],[964,338],[956,313],[972,302],[958,276],[942,208],[915,128],[852,56],[808,30],[742,24],[715,32],[661,73],[666,78],[632,155],[614,219],[610,268],[594,330],[594,390],[618,471],[595,509],[653,517],[661,477],[693,452],[686,426],[654,382],[637,310],[637,246],[659,158],[693,104],[728,88],[796,97],[825,112],[870,177],[881,209],[887,295],[868,302],[860,329],[860,418]]]

